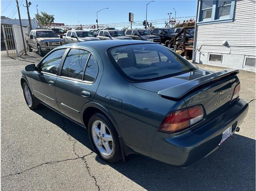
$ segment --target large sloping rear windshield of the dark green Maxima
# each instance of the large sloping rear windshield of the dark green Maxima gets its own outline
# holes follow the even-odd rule
[[[160,44],[132,44],[110,48],[108,56],[128,80],[150,81],[195,70],[182,56]]]

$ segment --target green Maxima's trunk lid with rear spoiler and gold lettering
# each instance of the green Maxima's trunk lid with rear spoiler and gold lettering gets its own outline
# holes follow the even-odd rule
[[[134,83],[144,90],[168,99],[184,99],[187,107],[202,105],[204,118],[214,117],[230,107],[234,88],[239,83],[238,70],[192,72],[152,82]]]

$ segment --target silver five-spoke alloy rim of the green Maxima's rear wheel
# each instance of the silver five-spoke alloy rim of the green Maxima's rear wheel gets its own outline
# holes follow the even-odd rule
[[[96,120],[92,124],[92,139],[98,151],[105,156],[113,152],[113,138],[103,121]]]

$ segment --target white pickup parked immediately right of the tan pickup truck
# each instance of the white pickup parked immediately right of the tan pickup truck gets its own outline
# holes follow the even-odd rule
[[[65,44],[70,44],[74,42],[93,41],[93,40],[100,40],[100,39],[95,37],[95,35],[89,31],[68,30],[65,37]]]

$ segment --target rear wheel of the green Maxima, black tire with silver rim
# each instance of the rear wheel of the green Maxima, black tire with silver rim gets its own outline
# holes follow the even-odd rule
[[[89,119],[88,133],[94,151],[109,163],[115,163],[122,157],[116,129],[109,119],[101,113],[95,113]]]

